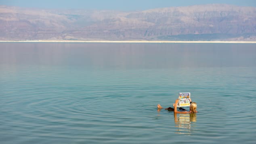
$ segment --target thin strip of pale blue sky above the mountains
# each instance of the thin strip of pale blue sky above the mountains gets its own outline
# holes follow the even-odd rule
[[[256,0],[0,0],[0,5],[27,8],[146,10],[171,6],[225,3],[237,6],[254,6]]]

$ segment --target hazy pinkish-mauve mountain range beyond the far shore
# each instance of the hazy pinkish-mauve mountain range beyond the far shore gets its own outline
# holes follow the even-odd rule
[[[121,12],[0,6],[0,40],[256,41],[256,8],[208,4]]]

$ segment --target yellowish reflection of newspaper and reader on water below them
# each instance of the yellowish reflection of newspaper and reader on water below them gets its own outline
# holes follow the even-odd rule
[[[191,135],[196,127],[197,116],[196,113],[177,114],[174,113],[174,122],[176,134]]]

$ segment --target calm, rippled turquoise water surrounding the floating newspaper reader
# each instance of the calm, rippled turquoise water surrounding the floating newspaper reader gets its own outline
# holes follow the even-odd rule
[[[255,44],[0,43],[0,141],[255,143]],[[157,111],[191,92],[196,115]]]

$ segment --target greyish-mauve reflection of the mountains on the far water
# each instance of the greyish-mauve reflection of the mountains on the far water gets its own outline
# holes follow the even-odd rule
[[[255,53],[255,44],[0,43],[0,64],[91,69],[255,67]]]

